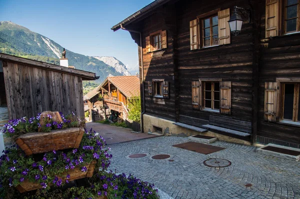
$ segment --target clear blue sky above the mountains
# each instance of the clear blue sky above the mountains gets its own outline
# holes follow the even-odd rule
[[[0,0],[0,21],[12,21],[68,50],[114,56],[138,70],[137,45],[124,30],[110,28],[153,0]]]

